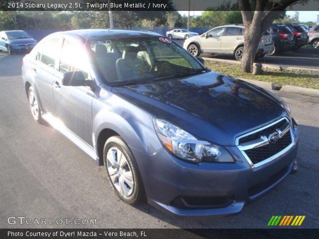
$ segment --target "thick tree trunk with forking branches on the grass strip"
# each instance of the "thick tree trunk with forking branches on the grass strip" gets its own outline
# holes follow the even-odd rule
[[[251,72],[260,37],[282,11],[296,2],[298,0],[239,0],[245,27],[240,71]]]

